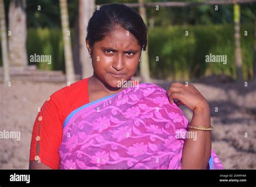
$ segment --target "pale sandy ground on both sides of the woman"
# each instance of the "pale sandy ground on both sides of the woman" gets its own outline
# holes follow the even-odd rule
[[[156,81],[164,89],[169,82]],[[212,147],[225,169],[256,169],[256,82],[210,77],[193,82],[211,107]],[[28,169],[37,109],[64,83],[14,81],[0,84],[0,131],[21,131],[21,140],[0,139],[0,169]],[[218,107],[218,112],[215,111]],[[181,107],[188,119],[192,112]]]

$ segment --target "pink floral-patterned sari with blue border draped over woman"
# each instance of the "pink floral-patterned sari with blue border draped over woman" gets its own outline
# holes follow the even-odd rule
[[[181,169],[187,125],[164,89],[141,83],[68,116],[59,169]],[[208,169],[223,169],[213,150]]]

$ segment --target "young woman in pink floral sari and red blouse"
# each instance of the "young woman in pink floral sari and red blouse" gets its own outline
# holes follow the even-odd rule
[[[147,46],[138,12],[102,6],[89,21],[86,46],[93,76],[43,104],[33,126],[30,169],[223,168],[211,149],[209,106],[193,85],[173,83],[168,93],[149,83],[119,86],[132,82]],[[173,99],[193,110],[191,124]]]

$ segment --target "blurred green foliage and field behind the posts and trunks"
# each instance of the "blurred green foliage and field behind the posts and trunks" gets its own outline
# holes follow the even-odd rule
[[[179,0],[176,0],[178,2]],[[137,0],[96,0],[97,4],[137,3]],[[166,2],[147,0],[147,2]],[[180,2],[185,2],[184,0]],[[187,1],[191,2],[191,1]],[[193,1],[200,2],[200,1]],[[6,23],[8,6],[5,1]],[[38,5],[41,11],[37,11]],[[78,19],[78,1],[69,0],[71,35]],[[241,49],[244,78],[253,76],[255,4],[241,5]],[[136,9],[138,11],[138,9]],[[152,78],[187,80],[213,74],[235,77],[233,5],[188,6],[184,8],[147,8],[149,59]],[[37,63],[39,69],[64,70],[64,52],[59,1],[26,1],[28,59],[33,54],[51,54],[51,66]],[[153,26],[150,20],[154,20]],[[188,36],[185,32],[188,31]],[[245,35],[247,31],[247,36]],[[0,46],[1,51],[1,46]],[[205,63],[207,54],[227,55],[227,64]],[[156,56],[159,61],[156,61]],[[32,63],[29,63],[32,64]],[[0,53],[0,65],[2,56]]]

